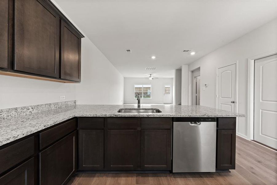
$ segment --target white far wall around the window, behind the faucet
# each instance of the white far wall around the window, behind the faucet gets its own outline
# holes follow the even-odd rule
[[[140,103],[163,103],[163,86],[172,84],[173,78],[124,78],[124,103],[137,103],[134,98],[134,85],[151,84],[151,99],[141,99]],[[173,87],[172,87],[173,88]]]

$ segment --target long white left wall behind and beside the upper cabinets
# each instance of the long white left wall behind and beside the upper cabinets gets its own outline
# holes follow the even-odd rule
[[[123,76],[87,37],[82,39],[81,61],[81,84],[0,75],[0,109],[58,102],[64,95],[64,101],[77,104],[122,104]]]

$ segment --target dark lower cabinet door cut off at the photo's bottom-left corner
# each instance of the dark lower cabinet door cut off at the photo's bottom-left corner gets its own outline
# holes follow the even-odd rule
[[[1,185],[33,185],[34,158],[24,162],[19,167],[0,177]]]

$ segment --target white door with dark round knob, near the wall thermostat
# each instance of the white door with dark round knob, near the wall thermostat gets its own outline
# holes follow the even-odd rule
[[[217,72],[217,109],[235,112],[236,64],[219,68]]]

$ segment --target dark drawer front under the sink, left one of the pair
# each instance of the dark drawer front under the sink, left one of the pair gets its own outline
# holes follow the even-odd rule
[[[107,127],[109,130],[137,130],[140,127],[140,121],[139,118],[108,118]]]

